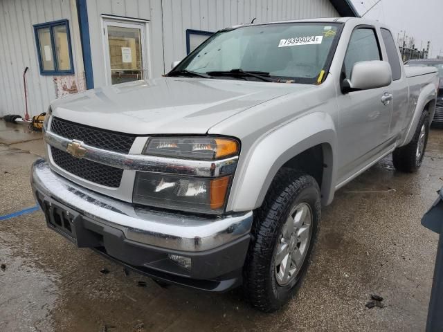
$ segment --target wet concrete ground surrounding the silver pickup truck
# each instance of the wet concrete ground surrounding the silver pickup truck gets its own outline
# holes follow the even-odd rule
[[[29,170],[43,151],[39,136],[1,123],[0,216],[35,205]],[[14,143],[11,130],[35,140]],[[300,292],[270,315],[239,290],[214,295],[125,276],[48,230],[40,211],[6,219],[0,331],[424,331],[437,235],[420,219],[442,185],[443,130],[433,129],[417,174],[396,172],[387,157],[343,187],[323,211]],[[371,294],[384,308],[365,307]]]

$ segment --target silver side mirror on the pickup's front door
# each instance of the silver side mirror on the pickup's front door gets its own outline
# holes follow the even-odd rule
[[[377,89],[392,82],[390,64],[386,61],[362,61],[354,64],[351,78],[343,80],[343,93]]]

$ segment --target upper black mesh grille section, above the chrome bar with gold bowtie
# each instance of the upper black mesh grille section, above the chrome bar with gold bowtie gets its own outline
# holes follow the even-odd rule
[[[84,124],[63,120],[53,117],[51,131],[70,140],[81,140],[91,147],[98,147],[109,151],[129,153],[135,135],[128,133],[116,133],[105,129],[89,127]]]

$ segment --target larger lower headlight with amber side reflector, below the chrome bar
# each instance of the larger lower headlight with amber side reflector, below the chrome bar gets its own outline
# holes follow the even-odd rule
[[[196,178],[138,172],[134,203],[188,212],[223,212],[230,176]]]

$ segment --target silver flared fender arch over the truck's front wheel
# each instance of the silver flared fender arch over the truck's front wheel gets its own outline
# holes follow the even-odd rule
[[[309,113],[266,133],[246,156],[240,156],[227,210],[254,210],[262,205],[275,174],[289,160],[320,145],[323,151],[322,203],[334,197],[336,129],[331,116]]]

